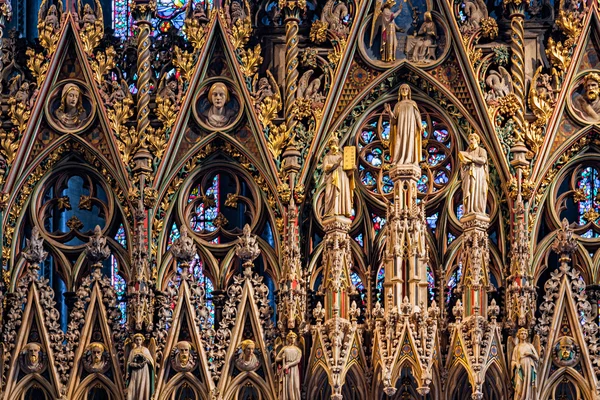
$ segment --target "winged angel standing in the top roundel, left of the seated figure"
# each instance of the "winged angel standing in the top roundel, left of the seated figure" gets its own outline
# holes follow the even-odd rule
[[[398,38],[396,31],[401,28],[396,25],[396,17],[402,12],[402,7],[396,12],[392,7],[396,5],[394,0],[377,0],[375,4],[375,14],[371,23],[371,39],[369,46],[373,46],[375,34],[381,30],[381,61],[390,62],[396,60],[396,50],[398,49]]]

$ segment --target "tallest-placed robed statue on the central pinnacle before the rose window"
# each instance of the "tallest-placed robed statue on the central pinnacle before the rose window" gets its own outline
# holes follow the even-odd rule
[[[398,103],[391,109],[385,105],[390,116],[390,160],[392,165],[419,165],[421,161],[421,135],[423,125],[421,113],[410,98],[410,86],[400,85]]]

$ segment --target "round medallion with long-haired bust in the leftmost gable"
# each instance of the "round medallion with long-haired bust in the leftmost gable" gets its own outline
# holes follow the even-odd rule
[[[50,126],[56,131],[78,133],[90,126],[96,106],[83,82],[67,79],[52,88],[45,111]]]

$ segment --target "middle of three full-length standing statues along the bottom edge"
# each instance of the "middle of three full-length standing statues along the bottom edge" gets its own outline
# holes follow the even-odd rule
[[[297,335],[290,331],[287,344],[275,357],[278,364],[279,400],[300,400],[300,370],[298,364],[302,359],[302,351],[294,345]]]

